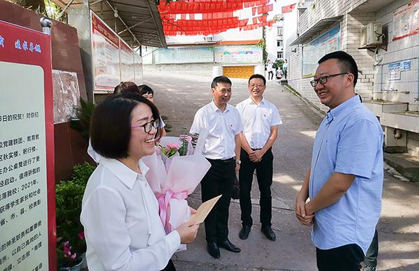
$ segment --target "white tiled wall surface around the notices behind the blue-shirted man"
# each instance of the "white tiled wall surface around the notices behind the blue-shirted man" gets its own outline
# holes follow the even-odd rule
[[[304,34],[307,29],[313,27],[321,19],[343,15],[340,30],[341,49],[354,57],[360,70],[355,91],[365,100],[383,99],[385,101],[409,103],[409,111],[418,112],[419,101],[416,101],[416,98],[419,96],[419,34],[392,41],[393,12],[411,0],[392,1],[388,5],[379,8],[375,13],[362,12],[362,9],[359,8],[357,12],[352,11],[367,1],[313,1],[307,8],[307,11],[300,16],[298,31],[300,34]],[[377,54],[375,54],[375,52],[369,50],[358,49],[360,47],[360,31],[369,22],[381,22],[383,31],[388,32],[387,51],[379,49]],[[323,33],[319,33],[319,35]],[[411,60],[411,70],[402,71],[400,80],[389,81],[388,64],[409,59]],[[319,103],[313,88],[309,85],[309,81],[312,79],[301,78],[301,48],[290,57],[289,73],[288,83],[291,87],[297,89],[304,98],[318,105],[322,110],[328,110],[328,108]],[[382,91],[382,89],[387,91]],[[407,141],[409,153],[419,157],[419,134],[409,132]]]

